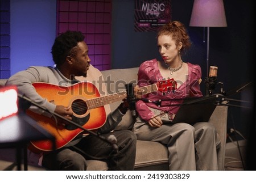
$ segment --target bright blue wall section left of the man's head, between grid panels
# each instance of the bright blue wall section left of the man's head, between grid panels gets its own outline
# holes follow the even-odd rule
[[[31,65],[53,65],[55,0],[11,0],[11,75]]]

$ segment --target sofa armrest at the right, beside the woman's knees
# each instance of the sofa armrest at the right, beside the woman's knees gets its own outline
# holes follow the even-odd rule
[[[224,170],[228,106],[218,105],[210,117],[209,122],[216,127],[217,133],[221,139],[220,148],[217,149],[218,170]]]

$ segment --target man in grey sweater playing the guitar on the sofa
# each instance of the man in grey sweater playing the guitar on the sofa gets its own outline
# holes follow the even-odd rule
[[[20,93],[35,101],[48,111],[55,112],[68,120],[74,115],[71,107],[67,105],[55,105],[36,92],[33,83],[45,82],[61,86],[72,86],[79,82],[77,78],[86,81],[88,73],[90,78],[100,77],[100,71],[90,66],[88,46],[81,32],[67,31],[56,37],[52,46],[52,57],[55,67],[31,66],[27,70],[16,73],[7,81],[7,85],[13,84],[18,87]],[[90,70],[92,69],[92,70]],[[89,71],[90,70],[90,71]],[[50,93],[51,94],[51,93]],[[105,124],[98,129],[102,137],[108,138],[113,135],[117,138],[119,153],[116,154],[114,147],[108,142],[102,141],[91,134],[85,136],[78,134],[68,145],[55,151],[42,153],[40,161],[48,170],[86,170],[88,156],[101,158],[108,163],[109,170],[134,170],[136,137],[130,130],[114,131],[115,126],[125,115],[129,105],[121,103],[113,112],[108,114]],[[48,113],[39,108],[30,108],[33,112],[43,116]],[[52,116],[49,116],[52,117]],[[57,119],[57,126],[67,125],[67,121]],[[63,126],[62,126],[63,127]]]

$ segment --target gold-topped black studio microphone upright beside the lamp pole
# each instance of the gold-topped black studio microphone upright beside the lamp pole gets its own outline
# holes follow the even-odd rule
[[[217,71],[218,71],[218,67],[210,66],[209,76],[205,80],[208,95],[212,95],[213,90],[215,89],[215,86],[217,84]]]

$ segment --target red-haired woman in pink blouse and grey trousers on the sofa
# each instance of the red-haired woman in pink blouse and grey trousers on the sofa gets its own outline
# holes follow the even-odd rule
[[[181,53],[191,45],[188,33],[182,23],[174,21],[159,29],[157,40],[163,60],[141,64],[138,86],[170,79],[173,87],[166,92],[143,95],[137,101],[138,117],[133,131],[137,139],[167,145],[170,170],[218,170],[216,146],[220,141],[213,125],[209,122],[171,124],[185,97],[202,96],[200,66],[181,59]],[[154,103],[159,99],[160,106]]]

